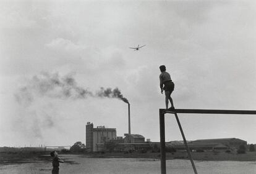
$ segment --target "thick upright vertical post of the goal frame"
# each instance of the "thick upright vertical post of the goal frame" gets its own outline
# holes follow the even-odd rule
[[[166,174],[165,132],[164,132],[163,109],[159,109],[159,119],[160,119],[161,174]]]

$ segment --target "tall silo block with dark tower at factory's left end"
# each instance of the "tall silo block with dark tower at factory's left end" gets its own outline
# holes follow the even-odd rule
[[[86,147],[90,152],[100,151],[105,142],[116,140],[115,128],[105,128],[105,126],[93,128],[93,124],[87,122],[85,130]]]

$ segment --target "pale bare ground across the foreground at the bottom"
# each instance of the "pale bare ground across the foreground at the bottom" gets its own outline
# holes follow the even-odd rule
[[[2,155],[2,154],[1,154]],[[9,157],[2,157],[0,162],[0,173],[51,173],[51,157],[49,155],[39,156],[32,154],[30,157],[20,158],[17,154],[8,154]],[[148,156],[148,154],[143,154]],[[118,156],[116,154],[116,156]],[[156,174],[160,173],[160,159],[139,158],[139,157],[114,157],[114,156],[95,156],[95,155],[78,155],[78,154],[60,154],[59,157],[64,159],[64,164],[60,164],[60,173],[122,173],[122,174]],[[2,163],[4,162],[4,163]],[[239,174],[255,173],[255,161],[211,161],[195,160],[195,166],[198,173],[211,174]],[[190,160],[173,159],[166,160],[167,173],[194,173]]]

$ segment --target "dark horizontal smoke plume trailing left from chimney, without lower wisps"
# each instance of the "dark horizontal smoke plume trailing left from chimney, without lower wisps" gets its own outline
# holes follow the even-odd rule
[[[108,97],[118,98],[129,103],[118,88],[112,90],[111,88],[104,89],[101,87],[100,90],[94,94],[88,89],[79,87],[74,77],[72,77],[72,74],[59,77],[58,73],[41,73],[38,76],[34,76],[24,87],[20,88],[19,92],[15,94],[15,98],[18,103],[28,106],[33,102],[36,95],[62,99]]]

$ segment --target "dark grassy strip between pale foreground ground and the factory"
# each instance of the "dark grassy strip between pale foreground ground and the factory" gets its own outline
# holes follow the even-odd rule
[[[122,152],[113,153],[87,153],[78,154],[85,157],[94,158],[146,158],[146,159],[160,159],[159,152],[147,152],[138,153],[132,152],[124,154]],[[192,152],[194,160],[236,160],[236,161],[256,161],[256,152],[246,152],[246,154],[237,154],[236,152]],[[166,153],[166,159],[189,159],[186,151],[178,151],[172,153]],[[0,152],[1,164],[21,164],[31,162],[35,160],[41,160],[45,162],[51,162],[49,152]],[[67,161],[68,162],[68,161]]]

